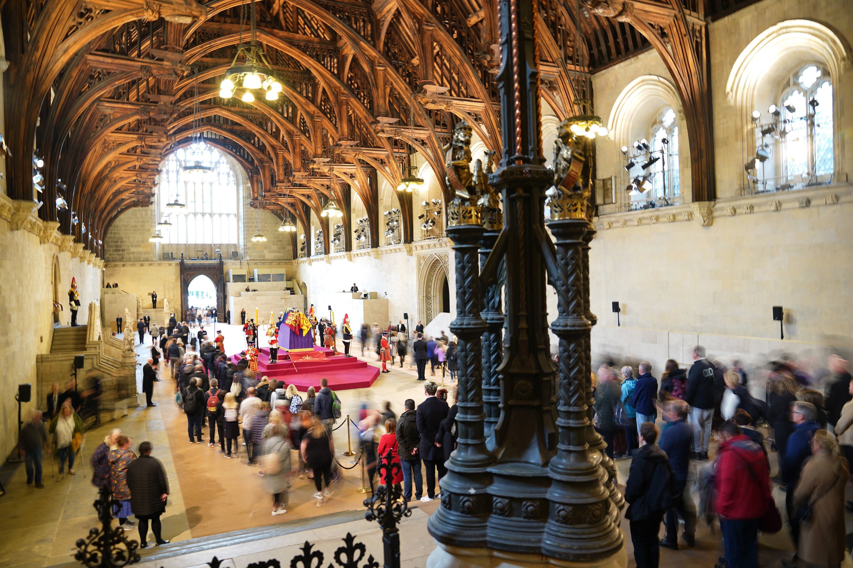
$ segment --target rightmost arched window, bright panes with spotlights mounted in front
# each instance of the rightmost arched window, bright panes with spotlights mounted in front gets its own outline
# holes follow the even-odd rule
[[[832,180],[833,83],[809,63],[785,81],[768,114],[752,113],[756,160],[746,164],[756,191],[797,189]]]

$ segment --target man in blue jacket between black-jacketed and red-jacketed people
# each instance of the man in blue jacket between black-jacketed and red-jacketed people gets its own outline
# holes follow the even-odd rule
[[[664,404],[664,432],[660,434],[660,449],[670,458],[676,474],[676,496],[673,507],[666,512],[666,536],[660,546],[678,550],[678,517],[684,520],[684,540],[696,546],[696,505],[685,491],[688,486],[689,456],[693,445],[693,428],[687,423],[690,407],[683,400],[670,400]],[[676,517],[677,515],[677,517]]]

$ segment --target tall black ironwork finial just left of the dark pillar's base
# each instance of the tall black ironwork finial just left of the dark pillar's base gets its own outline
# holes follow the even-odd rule
[[[412,514],[409,503],[403,499],[403,490],[394,484],[394,474],[402,471],[399,463],[393,461],[392,450],[380,456],[379,478],[385,483],[377,487],[374,496],[364,500],[368,508],[364,518],[375,520],[382,527],[382,544],[385,548],[385,568],[400,566],[400,534],[397,523],[403,517]]]

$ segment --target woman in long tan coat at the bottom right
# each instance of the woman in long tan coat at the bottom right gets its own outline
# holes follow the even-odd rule
[[[826,430],[815,432],[811,451],[794,491],[797,556],[812,566],[838,567],[844,561],[844,486],[850,470]]]

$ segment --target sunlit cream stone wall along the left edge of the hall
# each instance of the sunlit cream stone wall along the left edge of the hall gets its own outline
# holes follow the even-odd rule
[[[74,244],[69,236],[56,231],[57,225],[44,223],[29,214],[32,203],[12,202],[0,197],[0,249],[15,254],[0,255],[0,321],[6,333],[0,342],[3,360],[13,362],[0,376],[0,456],[7,456],[17,442],[18,385],[32,383],[33,399],[23,404],[26,420],[30,408],[44,408],[36,399],[38,354],[49,353],[54,329],[53,301],[55,266],[58,267],[56,295],[61,302],[60,323],[70,323],[68,289],[76,278],[80,294],[78,323],[86,324],[91,301],[100,300],[102,262]],[[67,378],[66,377],[57,377]]]

